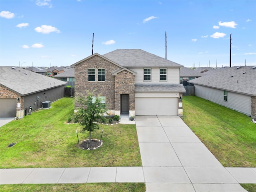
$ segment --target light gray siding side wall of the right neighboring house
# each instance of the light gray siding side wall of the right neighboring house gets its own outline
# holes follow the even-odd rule
[[[223,99],[224,90],[214,89],[206,86],[194,85],[195,95],[230,109],[251,114],[251,96],[228,91],[228,102]]]

